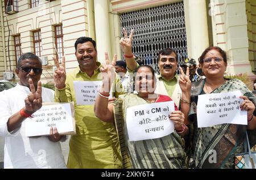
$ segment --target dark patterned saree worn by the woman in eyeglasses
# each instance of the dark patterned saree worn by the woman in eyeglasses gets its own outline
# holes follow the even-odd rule
[[[256,97],[238,79],[227,79],[224,84],[215,89],[212,93],[241,91],[256,106]],[[192,83],[191,87],[191,108],[189,110],[189,122],[191,122],[190,154],[195,164],[191,168],[234,168],[234,157],[242,153],[243,138],[246,134],[245,125],[222,124],[211,127],[197,127],[197,100],[203,91],[205,80]],[[256,114],[254,112],[254,114]],[[255,145],[256,130],[249,131],[250,144]]]

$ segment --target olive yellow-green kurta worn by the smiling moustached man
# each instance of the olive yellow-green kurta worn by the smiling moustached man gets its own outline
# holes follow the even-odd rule
[[[100,62],[92,77],[80,68],[69,72],[64,89],[55,88],[55,102],[75,102],[76,135],[69,141],[68,168],[122,168],[117,133],[113,123],[102,122],[94,115],[93,105],[77,105],[73,81],[101,81]],[[119,79],[115,88],[122,91]],[[113,90],[114,92],[114,90]],[[115,92],[118,97],[122,92]]]

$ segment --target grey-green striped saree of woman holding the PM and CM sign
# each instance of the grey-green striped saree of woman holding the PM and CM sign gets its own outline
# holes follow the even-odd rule
[[[126,109],[131,106],[147,104],[148,102],[131,93],[119,97],[114,102],[114,118],[121,147],[123,168],[186,168],[183,141],[176,131],[162,138],[133,142],[129,140],[126,126]]]

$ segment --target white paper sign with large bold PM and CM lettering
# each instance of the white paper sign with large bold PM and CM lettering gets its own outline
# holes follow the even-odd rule
[[[157,102],[127,108],[126,125],[130,141],[162,138],[174,132],[169,114],[174,101]]]

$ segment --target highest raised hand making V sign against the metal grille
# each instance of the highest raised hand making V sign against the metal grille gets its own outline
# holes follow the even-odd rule
[[[131,29],[130,36],[128,37],[126,29],[123,28],[124,37],[121,38],[121,40],[119,41],[119,44],[121,45],[122,52],[125,55],[133,54],[133,50],[132,50],[132,46],[131,46],[131,44],[133,42],[133,33],[134,33],[134,29]]]

